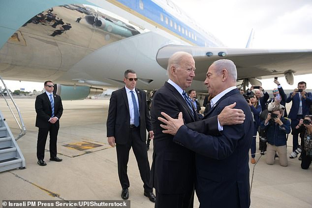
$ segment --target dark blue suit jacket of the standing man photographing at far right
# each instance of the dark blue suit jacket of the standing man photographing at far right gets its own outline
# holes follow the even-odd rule
[[[291,93],[289,93],[289,96],[286,99],[286,103],[289,103],[292,101],[291,108],[288,114],[289,119],[297,119],[298,110],[299,110],[299,104],[300,104],[300,98],[299,93],[296,93],[294,97],[291,97]],[[312,104],[312,94],[311,92],[307,92],[306,99],[302,99],[302,116],[309,115],[309,108]]]

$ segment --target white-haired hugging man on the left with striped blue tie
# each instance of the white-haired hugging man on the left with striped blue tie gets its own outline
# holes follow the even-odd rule
[[[196,111],[184,91],[190,87],[195,76],[193,57],[186,52],[176,52],[168,60],[167,73],[169,80],[156,91],[151,108],[155,132],[151,170],[151,179],[156,188],[157,197],[155,208],[193,208],[194,152],[174,143],[172,135],[162,132],[163,129],[160,128],[160,122],[157,119],[161,116],[160,112],[166,112],[173,118],[177,118],[179,112],[183,112],[185,123],[198,120]],[[226,110],[224,114],[226,116],[223,119],[220,118],[221,124],[222,121],[232,121],[233,115],[244,116],[241,110],[239,112],[230,108]],[[209,120],[213,127],[210,128],[210,123],[208,123],[206,129],[218,132],[217,116]]]

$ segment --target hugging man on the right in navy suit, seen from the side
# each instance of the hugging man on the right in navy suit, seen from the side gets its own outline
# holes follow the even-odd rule
[[[173,141],[196,152],[196,194],[200,208],[249,208],[249,148],[253,119],[250,108],[236,88],[236,66],[231,60],[215,61],[208,69],[205,85],[214,98],[203,120],[184,125],[182,113],[165,119],[164,133]],[[244,111],[245,121],[223,125],[219,132],[207,131],[208,119],[217,116],[231,103]],[[210,135],[207,135],[210,134]]]

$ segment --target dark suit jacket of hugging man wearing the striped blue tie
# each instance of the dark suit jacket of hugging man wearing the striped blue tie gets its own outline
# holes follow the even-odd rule
[[[154,153],[151,170],[152,184],[161,194],[185,193],[187,187],[193,187],[194,153],[172,141],[173,136],[162,133],[158,117],[160,112],[172,118],[183,113],[185,123],[196,121],[197,114],[192,115],[182,95],[169,83],[158,89],[154,95],[151,119],[154,130]]]

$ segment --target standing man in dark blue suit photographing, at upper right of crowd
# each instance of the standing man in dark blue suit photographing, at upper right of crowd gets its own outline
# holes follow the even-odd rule
[[[306,92],[306,88],[306,82],[299,82],[298,88],[289,93],[286,99],[286,103],[292,101],[288,114],[288,118],[291,119],[292,151],[298,148],[299,131],[296,129],[296,126],[299,124],[300,119],[303,119],[305,115],[309,115],[309,108],[312,104],[312,94],[311,92]],[[289,158],[293,157],[290,156]]]

